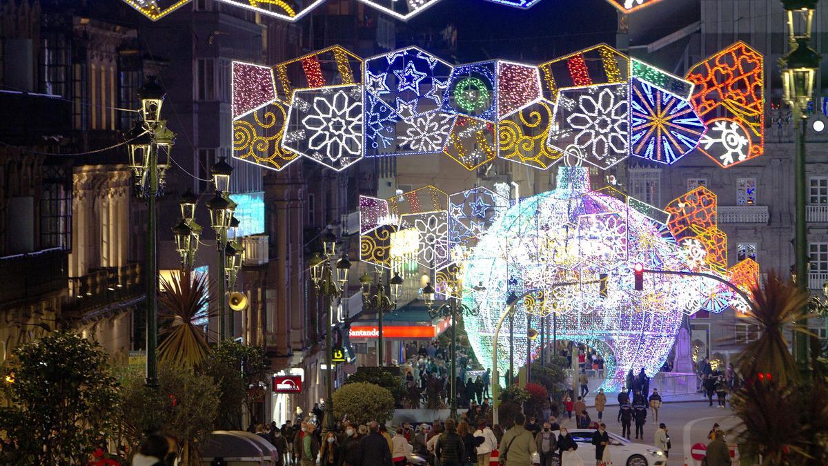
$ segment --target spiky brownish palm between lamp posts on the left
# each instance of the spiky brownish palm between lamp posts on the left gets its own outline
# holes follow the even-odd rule
[[[210,317],[207,274],[179,271],[169,280],[161,277],[161,289],[164,291],[158,300],[163,329],[158,357],[161,361],[199,367],[210,351],[207,335],[197,324]]]

